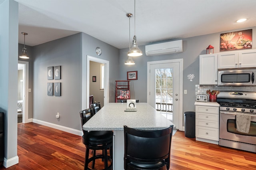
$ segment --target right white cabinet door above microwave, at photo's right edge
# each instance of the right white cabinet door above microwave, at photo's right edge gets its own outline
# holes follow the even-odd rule
[[[256,67],[256,49],[239,51],[238,65],[241,68]]]

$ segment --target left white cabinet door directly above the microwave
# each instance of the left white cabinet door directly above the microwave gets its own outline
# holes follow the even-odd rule
[[[238,51],[218,54],[218,69],[232,69],[238,67]]]

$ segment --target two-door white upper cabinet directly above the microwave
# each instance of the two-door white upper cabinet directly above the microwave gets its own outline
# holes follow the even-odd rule
[[[218,53],[218,69],[256,67],[256,49]]]

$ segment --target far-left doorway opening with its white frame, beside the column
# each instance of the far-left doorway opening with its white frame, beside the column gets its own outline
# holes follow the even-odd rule
[[[22,113],[22,121],[20,121],[20,123],[28,123],[28,61],[18,61],[17,102],[17,111],[18,113]]]

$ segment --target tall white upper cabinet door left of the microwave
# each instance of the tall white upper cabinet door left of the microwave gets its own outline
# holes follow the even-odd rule
[[[205,54],[199,56],[199,84],[217,85],[218,84],[218,55]]]

